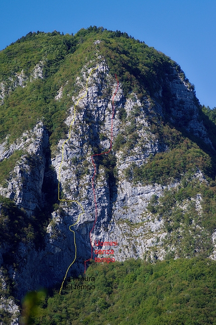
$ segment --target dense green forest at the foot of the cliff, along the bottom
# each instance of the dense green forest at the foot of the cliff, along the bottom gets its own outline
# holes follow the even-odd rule
[[[140,259],[109,265],[93,263],[86,277],[95,278],[95,289],[74,289],[72,280],[73,290],[64,290],[62,295],[55,292],[45,297],[43,291],[28,294],[21,323],[216,324],[215,272],[215,262],[202,258],[154,265]]]

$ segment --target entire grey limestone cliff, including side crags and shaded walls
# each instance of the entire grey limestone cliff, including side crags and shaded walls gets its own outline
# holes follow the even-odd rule
[[[170,67],[170,74],[163,76],[154,96],[141,96],[135,90],[127,92],[121,78],[114,96],[117,80],[107,60],[98,52],[99,43],[93,43],[95,62],[86,63],[73,79],[78,91],[73,93],[64,120],[67,125],[64,139],[50,150],[50,132],[41,118],[16,141],[10,143],[6,138],[0,146],[0,161],[20,153],[2,182],[1,195],[13,200],[30,224],[35,218],[37,222],[37,213],[44,213],[45,220],[41,223],[45,231],[41,245],[31,238],[20,240],[12,250],[13,263],[6,258],[11,253],[10,244],[1,244],[0,262],[13,279],[14,295],[19,299],[27,291],[52,287],[63,281],[75,256],[74,236],[69,229],[72,224],[75,224],[71,229],[75,232],[77,256],[68,273],[71,275],[83,273],[84,261],[91,257],[89,232],[92,227],[93,251],[95,241],[118,241],[112,255],[116,261],[141,257],[153,262],[199,253],[215,259],[215,232],[202,222],[205,201],[201,186],[209,187],[209,180],[200,167],[205,161],[204,153],[200,164],[194,163],[176,177],[170,172],[166,181],[148,182],[143,178],[143,166],[149,163],[149,169],[156,166],[158,161],[154,162],[154,157],[161,160],[162,155],[168,154],[178,143],[186,141],[187,150],[197,153],[200,141],[200,148],[204,144],[214,154],[214,144],[193,87],[182,78],[181,71]],[[39,68],[34,70],[35,78],[42,79],[42,68]],[[87,79],[92,69],[95,70]],[[68,80],[62,80],[52,93],[53,99],[61,103],[63,96],[69,97],[70,85]],[[97,204],[94,226],[91,156],[110,148],[112,98],[115,104],[113,148],[109,154],[94,157],[93,186]],[[168,127],[167,133],[165,127]],[[190,147],[189,141],[197,144]],[[198,153],[193,157],[196,155]],[[187,165],[189,161],[181,162],[184,163]],[[175,170],[171,165],[170,159],[170,169]],[[136,178],[138,172],[140,178]],[[84,214],[79,219],[82,211],[76,202],[58,201],[58,184],[62,199],[82,205]],[[185,194],[188,184],[193,190]],[[93,253],[93,257],[96,256]],[[109,256],[103,254],[103,257]]]

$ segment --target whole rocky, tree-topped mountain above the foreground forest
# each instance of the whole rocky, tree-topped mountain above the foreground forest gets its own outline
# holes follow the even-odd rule
[[[214,110],[176,62],[94,26],[30,32],[0,67],[5,323],[91,259],[216,259]]]

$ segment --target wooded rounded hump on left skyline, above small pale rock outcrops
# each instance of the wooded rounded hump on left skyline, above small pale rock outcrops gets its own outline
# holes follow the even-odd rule
[[[56,31],[30,32],[0,52],[0,79],[7,80],[6,78],[22,71],[26,76],[30,76],[38,63],[42,64],[44,77],[49,77],[56,72],[65,56],[75,48],[76,40],[72,35],[61,35]]]

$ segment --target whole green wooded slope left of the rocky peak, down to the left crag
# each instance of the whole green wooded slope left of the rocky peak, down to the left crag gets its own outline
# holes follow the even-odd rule
[[[12,79],[15,74],[23,72],[30,78],[37,64],[43,68],[44,79],[31,82],[27,79],[25,88],[17,87],[14,91],[9,91],[0,110],[0,138],[4,139],[10,134],[10,142],[13,142],[38,120],[43,120],[47,127],[51,145],[64,138],[68,129],[63,122],[66,111],[73,105],[71,96],[79,91],[75,78],[85,66],[86,60],[89,62],[92,58],[89,50],[93,46],[91,37],[82,44],[79,34],[73,36],[39,32],[29,33],[1,51],[0,80],[4,81],[6,90],[14,90]],[[63,99],[56,101],[57,91],[66,82],[68,84]]]

